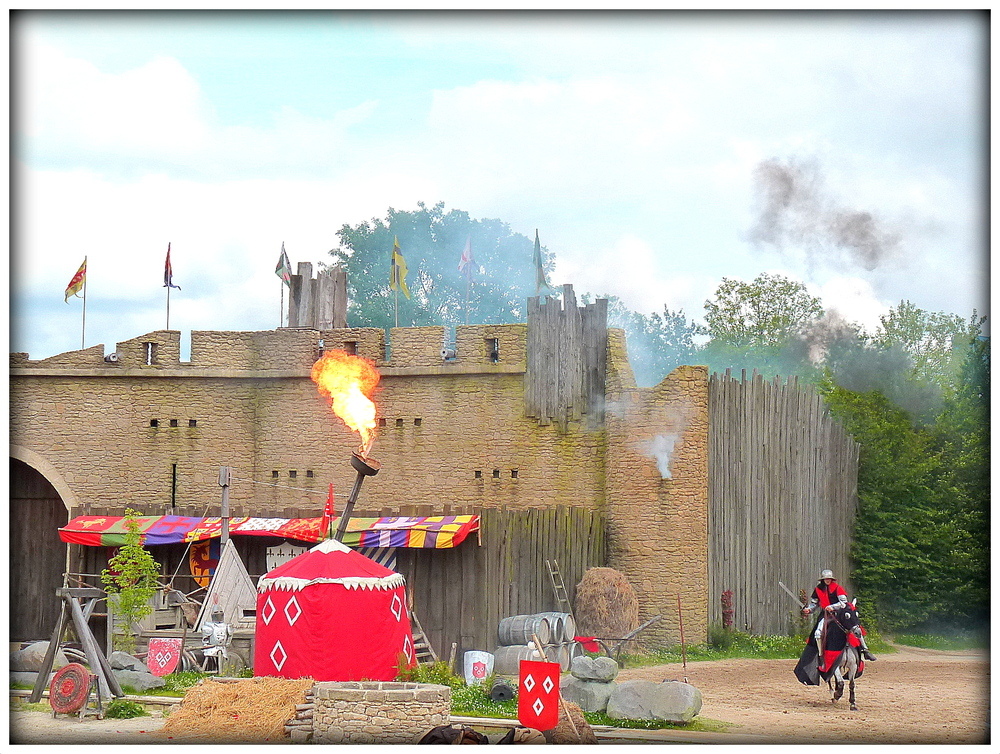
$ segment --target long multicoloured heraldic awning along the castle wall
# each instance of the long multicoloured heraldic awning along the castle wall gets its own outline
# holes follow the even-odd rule
[[[222,536],[221,518],[196,516],[138,516],[139,532],[145,545],[198,542]],[[321,517],[229,519],[232,535],[281,537],[299,542],[320,542]],[[333,520],[336,531],[339,519]],[[479,530],[479,516],[381,516],[351,518],[347,522],[344,544],[350,547],[457,547]],[[118,547],[125,544],[124,516],[77,516],[59,529],[63,542],[78,545]]]

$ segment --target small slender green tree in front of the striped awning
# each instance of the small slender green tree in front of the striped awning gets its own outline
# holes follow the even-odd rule
[[[156,594],[159,564],[142,546],[138,516],[142,514],[131,508],[125,509],[125,544],[101,572],[101,582],[108,593],[111,612],[121,621],[116,627],[112,644],[123,652],[135,651],[136,637],[132,629],[151,612],[150,600]]]

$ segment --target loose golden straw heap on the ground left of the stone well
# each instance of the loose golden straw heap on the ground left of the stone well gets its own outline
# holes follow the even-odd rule
[[[311,678],[206,678],[184,696],[158,731],[160,738],[217,743],[287,739],[285,723],[305,702]]]

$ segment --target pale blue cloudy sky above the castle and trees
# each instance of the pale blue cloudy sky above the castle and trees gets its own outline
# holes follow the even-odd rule
[[[278,326],[389,207],[499,218],[551,282],[701,320],[801,280],[869,329],[988,308],[988,17],[21,12],[10,350]],[[388,255],[386,250],[387,276]],[[456,249],[456,265],[461,249]],[[405,249],[404,249],[405,254]]]

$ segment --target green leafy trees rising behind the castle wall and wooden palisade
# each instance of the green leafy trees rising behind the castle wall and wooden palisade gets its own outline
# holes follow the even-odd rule
[[[331,251],[348,270],[349,326],[523,322],[552,255],[499,220],[438,203],[344,225]],[[398,239],[410,296],[389,287]],[[468,246],[473,261],[459,270]],[[471,281],[470,281],[471,278]],[[943,630],[989,612],[989,339],[985,317],[901,301],[875,332],[775,275],[723,278],[696,323],[642,314],[613,296],[640,385],[682,364],[756,369],[814,384],[861,445],[852,580],[883,630]],[[584,295],[584,300],[594,296]],[[822,564],[817,564],[817,568]]]

